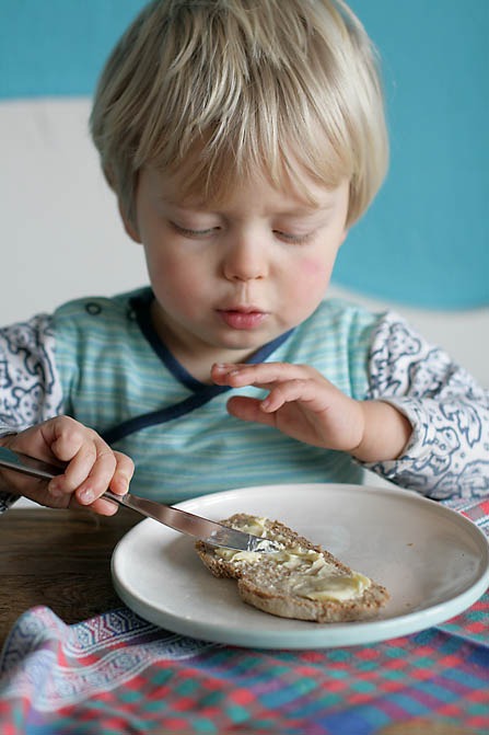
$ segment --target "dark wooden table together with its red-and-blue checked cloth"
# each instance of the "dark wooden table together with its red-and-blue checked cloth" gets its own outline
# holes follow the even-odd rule
[[[126,508],[112,518],[89,512],[8,510],[0,518],[0,642],[23,611],[39,604],[67,623],[120,606],[112,586],[110,556],[118,539],[139,520]],[[0,701],[0,732],[7,732],[3,723],[12,722],[19,733],[27,722],[55,732],[50,726],[60,720],[61,727],[67,722],[69,726],[57,733],[75,733],[81,732],[80,721],[96,720],[101,733],[117,727],[163,735],[195,732],[202,717],[211,719],[220,733],[261,732],[253,726],[258,722],[279,732],[296,720],[304,723],[301,732],[315,731],[318,722],[335,733],[344,732],[347,723],[351,732],[351,722],[358,722],[360,730],[375,730],[375,735],[481,735],[489,733],[487,609],[485,596],[480,616],[459,616],[443,630],[305,655],[240,646],[202,648],[201,642],[182,642],[167,631],[145,636],[137,624],[128,628],[127,619],[107,636],[101,618],[77,647],[53,627],[48,641],[39,640],[39,618],[33,620],[36,616],[31,613],[33,631],[22,630],[28,655],[19,657],[15,643],[12,646],[9,686],[21,693]],[[185,655],[175,656],[179,643]],[[39,658],[32,654],[46,650],[51,652],[42,657],[46,686],[37,697]],[[92,667],[106,674],[92,676]],[[65,676],[73,682],[74,700]],[[286,702],[282,714],[277,702]],[[244,711],[249,727],[243,722]],[[465,727],[466,722],[474,726]]]

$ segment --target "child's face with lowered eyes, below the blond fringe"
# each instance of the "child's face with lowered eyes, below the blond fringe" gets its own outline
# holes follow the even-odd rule
[[[141,172],[137,227],[155,295],[156,330],[175,357],[240,361],[310,317],[346,237],[348,182],[306,182],[317,206],[264,177],[210,206],[176,176]]]

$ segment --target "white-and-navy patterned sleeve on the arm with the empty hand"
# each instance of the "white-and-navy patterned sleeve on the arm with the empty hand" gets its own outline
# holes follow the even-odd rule
[[[489,494],[488,391],[395,313],[374,334],[368,398],[392,403],[414,428],[401,457],[368,469],[435,499]]]

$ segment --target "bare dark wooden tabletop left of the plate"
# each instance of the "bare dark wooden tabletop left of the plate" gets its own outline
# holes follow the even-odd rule
[[[117,541],[141,516],[89,510],[12,508],[0,517],[0,646],[12,623],[35,605],[73,623],[121,605],[110,578]]]

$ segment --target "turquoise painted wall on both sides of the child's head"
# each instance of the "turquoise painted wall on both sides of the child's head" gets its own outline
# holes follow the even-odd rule
[[[142,4],[0,0],[0,99],[91,94]],[[383,57],[392,164],[336,283],[405,305],[487,305],[489,0],[350,4]]]

